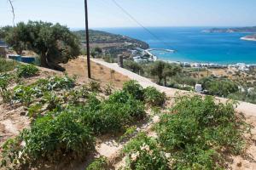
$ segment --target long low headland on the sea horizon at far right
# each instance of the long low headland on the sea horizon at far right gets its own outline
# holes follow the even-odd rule
[[[256,26],[247,27],[236,27],[236,28],[212,28],[209,30],[204,30],[203,32],[246,32],[246,33],[256,33]]]

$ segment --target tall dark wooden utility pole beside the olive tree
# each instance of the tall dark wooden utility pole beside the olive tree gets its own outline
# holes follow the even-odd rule
[[[85,10],[85,34],[86,34],[86,48],[87,48],[87,70],[88,78],[90,77],[90,42],[89,42],[89,26],[88,26],[88,5],[87,0],[84,0],[84,10]]]

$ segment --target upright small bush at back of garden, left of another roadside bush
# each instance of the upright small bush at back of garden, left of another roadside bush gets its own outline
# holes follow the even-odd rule
[[[123,90],[135,99],[143,100],[143,87],[134,80],[124,83]]]

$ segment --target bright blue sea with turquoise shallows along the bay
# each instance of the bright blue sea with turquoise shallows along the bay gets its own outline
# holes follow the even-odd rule
[[[256,42],[240,38],[249,33],[204,33],[207,27],[102,28],[148,42],[150,48],[168,48],[176,53],[153,51],[159,59],[217,64],[256,64]]]

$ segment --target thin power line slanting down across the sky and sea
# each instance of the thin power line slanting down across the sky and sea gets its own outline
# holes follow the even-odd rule
[[[155,39],[157,39],[159,42],[162,42],[163,44],[165,44],[167,48],[172,49],[171,46],[170,46],[168,43],[162,41],[162,40],[160,39],[160,37],[157,37],[152,31],[148,30],[147,27],[143,26],[143,24],[141,24],[138,20],[136,20],[136,19],[135,19],[127,10],[125,10],[125,8],[123,8],[119,3],[117,3],[115,0],[112,0],[112,2],[113,2],[118,8],[120,8],[125,14],[127,14],[127,15],[131,18],[131,20],[135,21],[138,26],[141,26],[145,31],[147,31],[152,37],[154,37]]]

